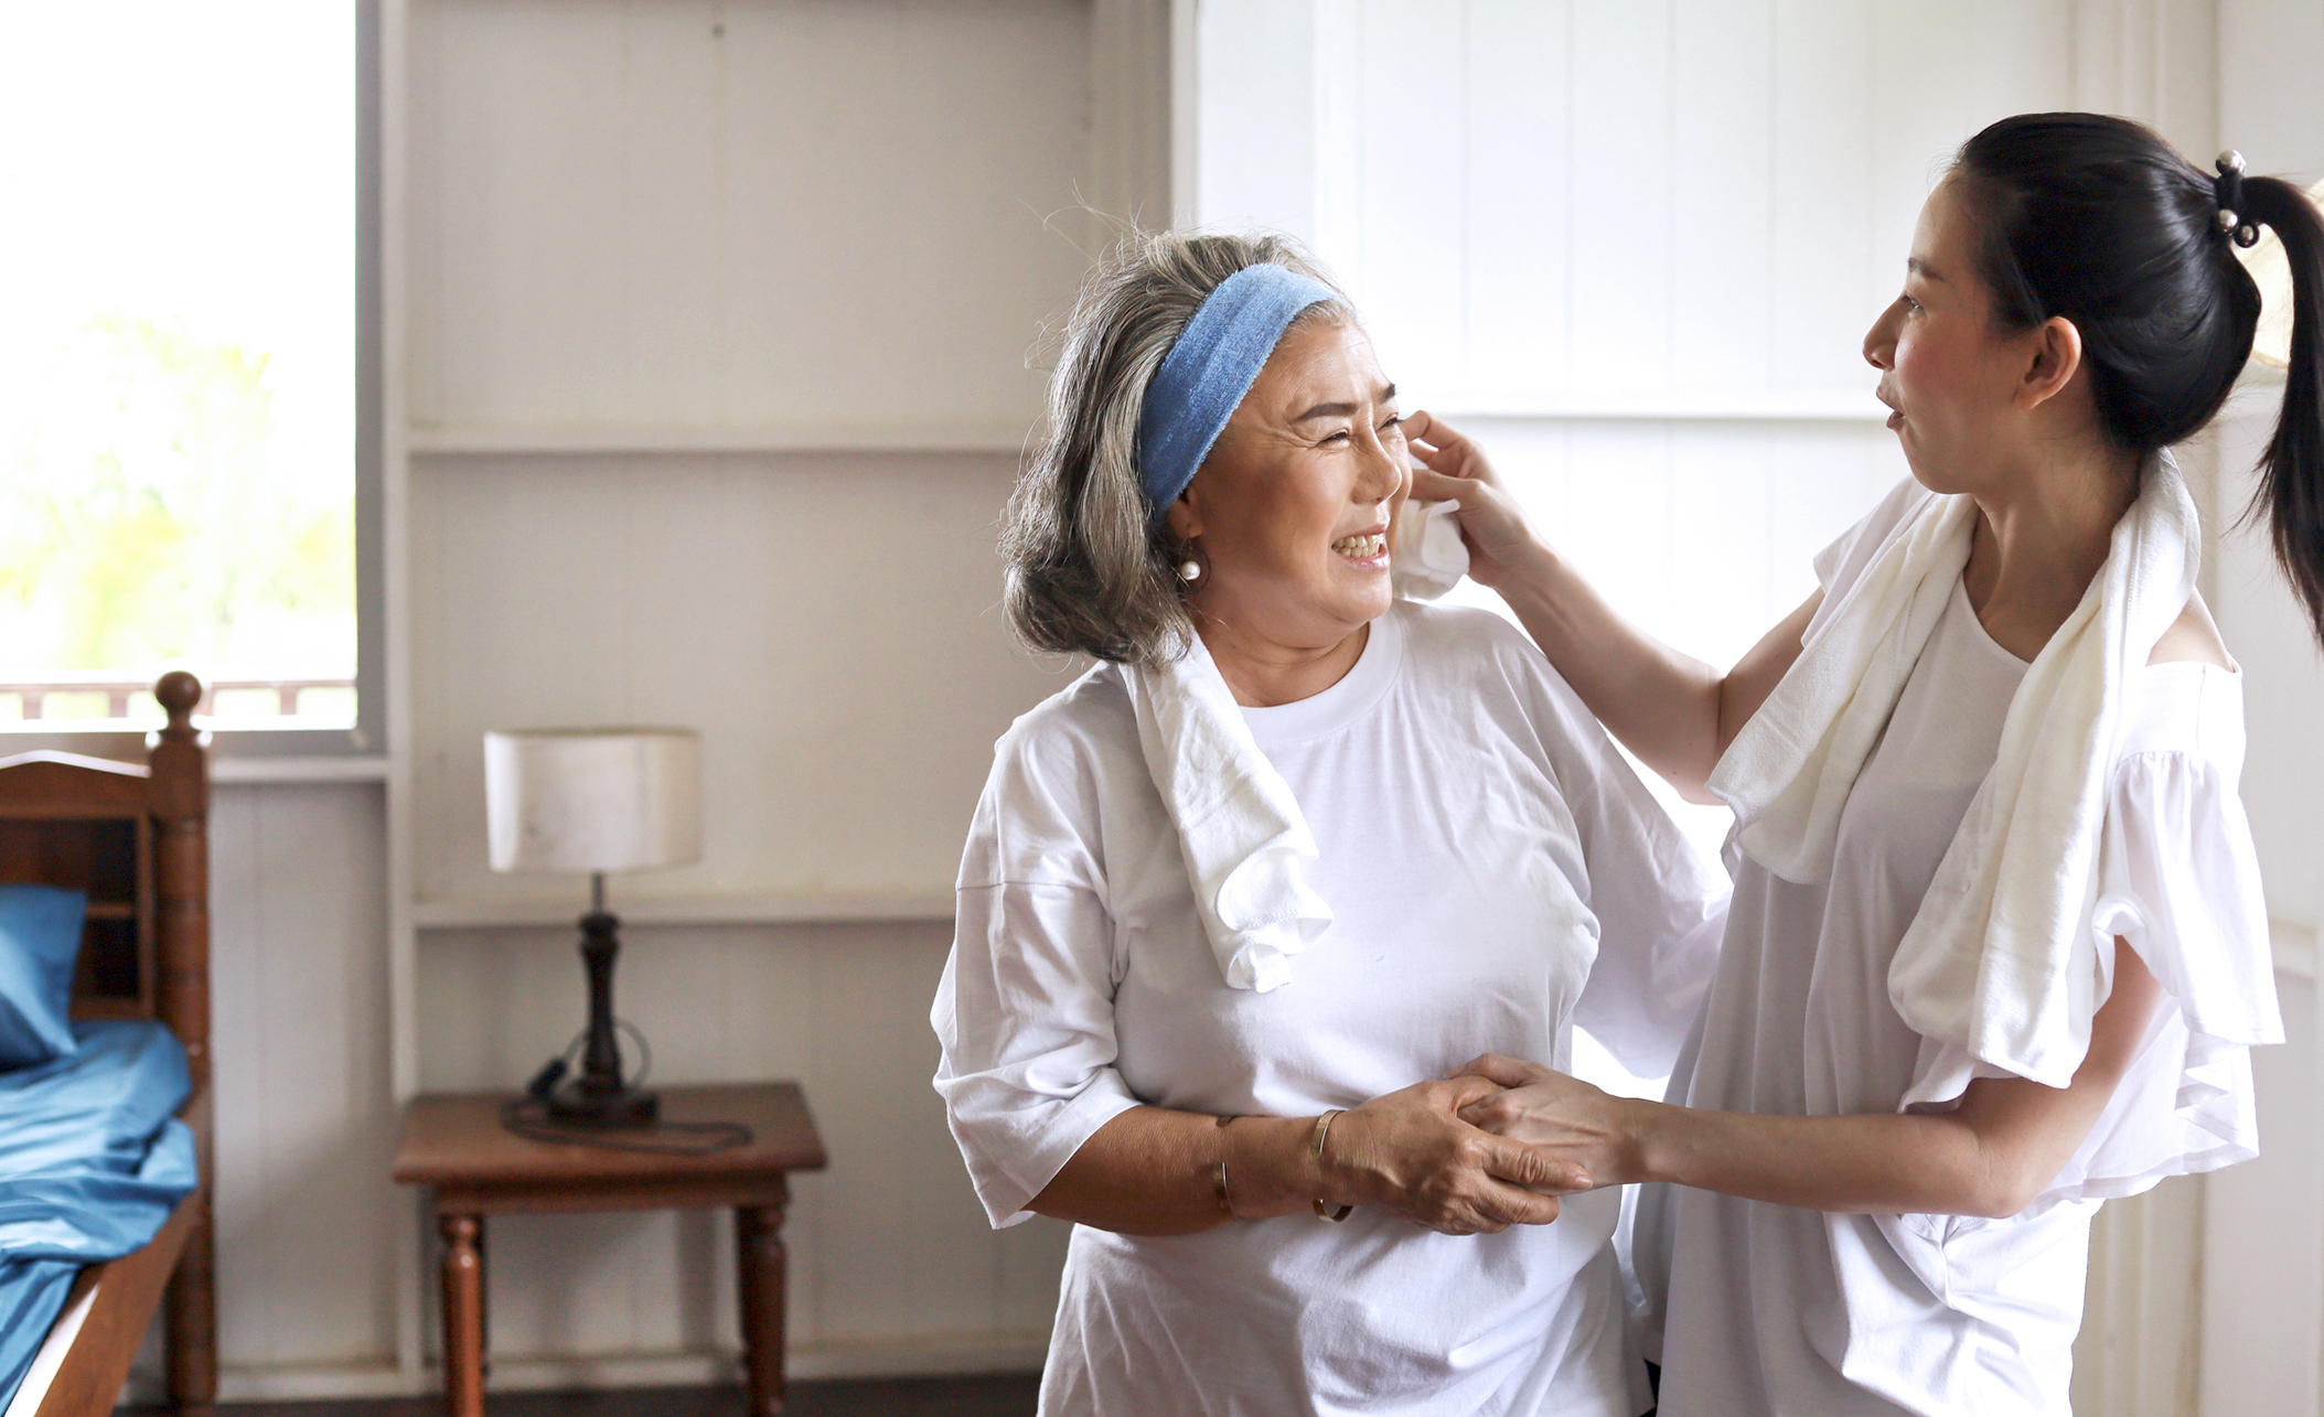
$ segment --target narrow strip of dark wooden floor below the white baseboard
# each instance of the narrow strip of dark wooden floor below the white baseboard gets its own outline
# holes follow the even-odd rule
[[[1032,1417],[1041,1378],[858,1378],[792,1382],[788,1417]],[[746,1417],[739,1387],[639,1387],[630,1391],[488,1394],[488,1417]],[[442,1417],[439,1398],[346,1403],[228,1403],[218,1417]],[[165,1417],[121,1408],[114,1417]]]

